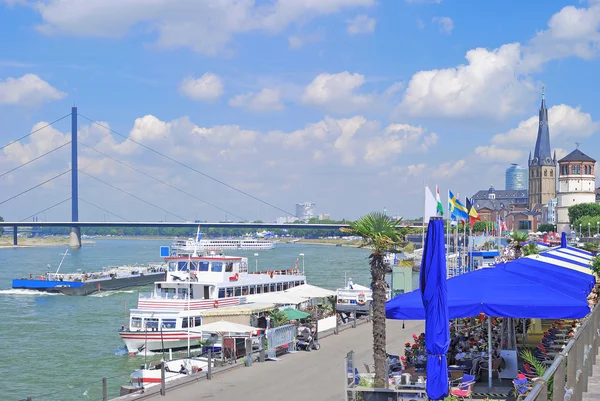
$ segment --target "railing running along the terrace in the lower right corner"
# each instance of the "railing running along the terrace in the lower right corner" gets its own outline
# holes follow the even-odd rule
[[[600,304],[577,328],[573,338],[556,356],[546,373],[534,381],[525,401],[570,401],[581,400],[582,393],[588,391],[588,378],[596,363],[600,345]],[[548,383],[554,379],[552,389]],[[552,393],[552,398],[549,398]]]

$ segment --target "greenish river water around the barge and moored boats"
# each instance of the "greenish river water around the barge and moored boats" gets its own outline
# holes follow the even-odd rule
[[[164,240],[98,239],[69,250],[61,272],[99,270],[104,266],[159,262]],[[109,399],[118,396],[144,356],[129,356],[117,331],[137,306],[137,294],[150,287],[109,291],[87,297],[12,290],[11,280],[54,271],[65,248],[0,249],[0,399],[39,401],[101,400],[107,377]],[[364,249],[278,244],[266,251],[228,251],[248,257],[249,269],[292,268],[300,253],[309,284],[336,289],[344,274],[369,285],[368,251]],[[299,267],[302,267],[300,257]],[[148,356],[148,362],[161,355]]]

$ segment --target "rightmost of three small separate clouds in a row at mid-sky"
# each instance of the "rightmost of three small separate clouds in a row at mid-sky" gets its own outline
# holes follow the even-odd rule
[[[350,112],[369,107],[373,95],[355,91],[365,83],[364,75],[348,71],[338,74],[322,73],[306,87],[302,102],[335,112]]]

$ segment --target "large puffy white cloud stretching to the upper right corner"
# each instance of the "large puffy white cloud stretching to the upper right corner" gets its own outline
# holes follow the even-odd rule
[[[494,119],[521,114],[535,99],[531,74],[550,60],[596,57],[599,28],[600,3],[564,7],[551,17],[547,30],[525,45],[472,49],[466,54],[467,64],[415,73],[397,113]]]

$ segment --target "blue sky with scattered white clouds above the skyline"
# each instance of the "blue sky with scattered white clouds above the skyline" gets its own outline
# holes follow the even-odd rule
[[[0,0],[0,216],[70,220],[77,106],[81,221],[419,217],[526,165],[542,86],[557,155],[600,156],[599,28],[597,0]]]

